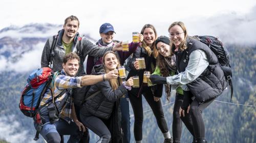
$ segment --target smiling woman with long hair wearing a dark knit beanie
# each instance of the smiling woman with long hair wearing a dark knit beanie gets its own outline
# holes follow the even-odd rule
[[[170,40],[166,36],[160,36],[157,38],[155,45],[159,52],[157,56],[157,67],[153,74],[161,75],[164,77],[173,76],[177,73],[175,65],[175,56],[171,55],[170,52]],[[170,86],[165,85],[165,94],[167,100],[170,98]],[[183,91],[181,87],[176,89],[174,112],[173,112],[173,142],[179,143],[182,131],[182,122],[185,124],[190,133],[194,136],[193,127],[191,125],[191,120],[189,120],[188,115],[185,117],[180,116],[179,109],[183,103],[183,94],[188,94],[188,92]],[[182,122],[181,122],[182,121]]]

